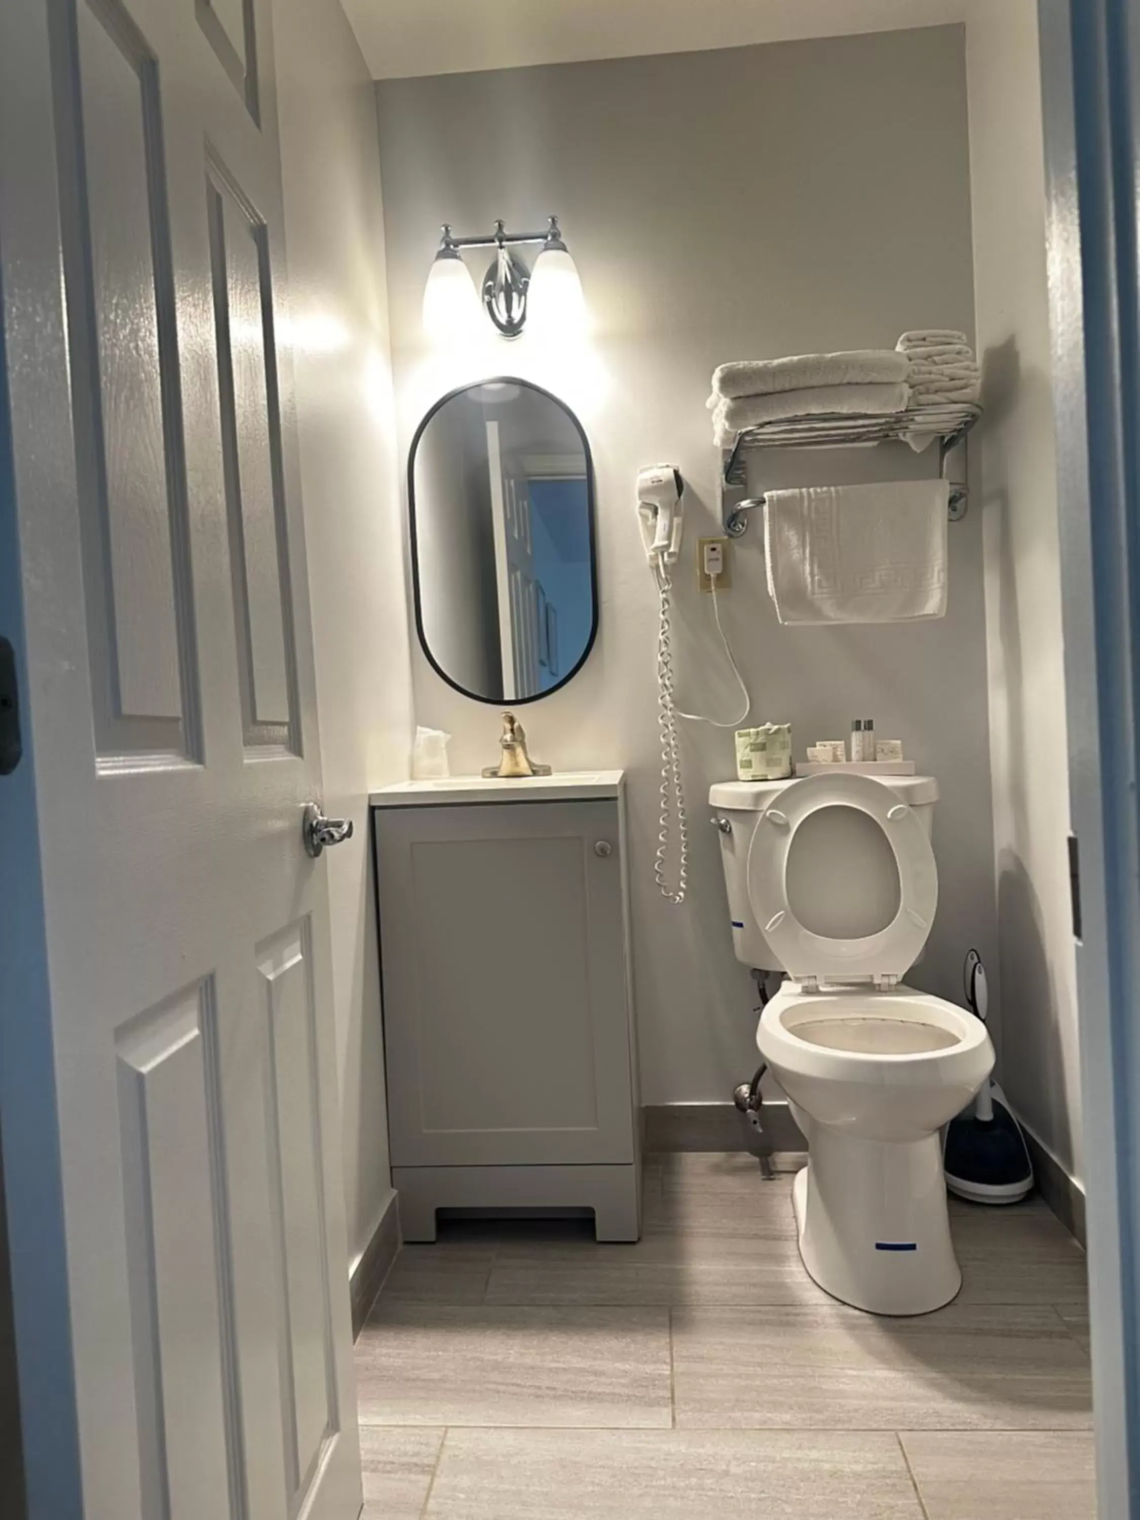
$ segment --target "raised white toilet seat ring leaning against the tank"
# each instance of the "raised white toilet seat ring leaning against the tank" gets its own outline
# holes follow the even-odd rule
[[[898,868],[898,912],[862,939],[830,939],[806,929],[787,901],[787,859],[796,828],[821,807],[854,807],[883,830]],[[836,860],[836,869],[844,862]],[[784,787],[757,819],[748,850],[748,897],[755,921],[787,974],[803,982],[898,979],[926,944],[938,906],[935,853],[921,819],[868,775],[810,775]]]

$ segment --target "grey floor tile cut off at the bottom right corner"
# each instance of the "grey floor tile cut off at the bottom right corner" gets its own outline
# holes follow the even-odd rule
[[[929,1520],[1096,1520],[1082,1430],[901,1436]]]

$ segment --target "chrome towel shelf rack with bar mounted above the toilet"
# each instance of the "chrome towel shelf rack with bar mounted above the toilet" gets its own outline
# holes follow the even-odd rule
[[[765,423],[737,433],[731,448],[724,450],[720,515],[725,532],[740,538],[748,529],[748,514],[765,505],[763,496],[746,497],[748,451],[752,448],[853,448],[904,439],[910,433],[935,433],[938,441],[938,474],[945,474],[950,453],[982,415],[980,406],[921,407],[892,412],[888,416],[825,415],[789,418]],[[964,485],[950,489],[950,521],[965,517],[968,491]]]

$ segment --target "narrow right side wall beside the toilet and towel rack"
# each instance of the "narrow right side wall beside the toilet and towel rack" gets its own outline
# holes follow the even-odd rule
[[[1037,5],[982,0],[974,11],[967,59],[986,415],[970,474],[985,521],[1000,1076],[1023,1122],[1081,1180]]]

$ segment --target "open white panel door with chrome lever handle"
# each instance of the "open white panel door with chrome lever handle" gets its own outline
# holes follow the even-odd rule
[[[360,1508],[269,21],[0,6],[24,739],[0,1122],[30,1520]]]

